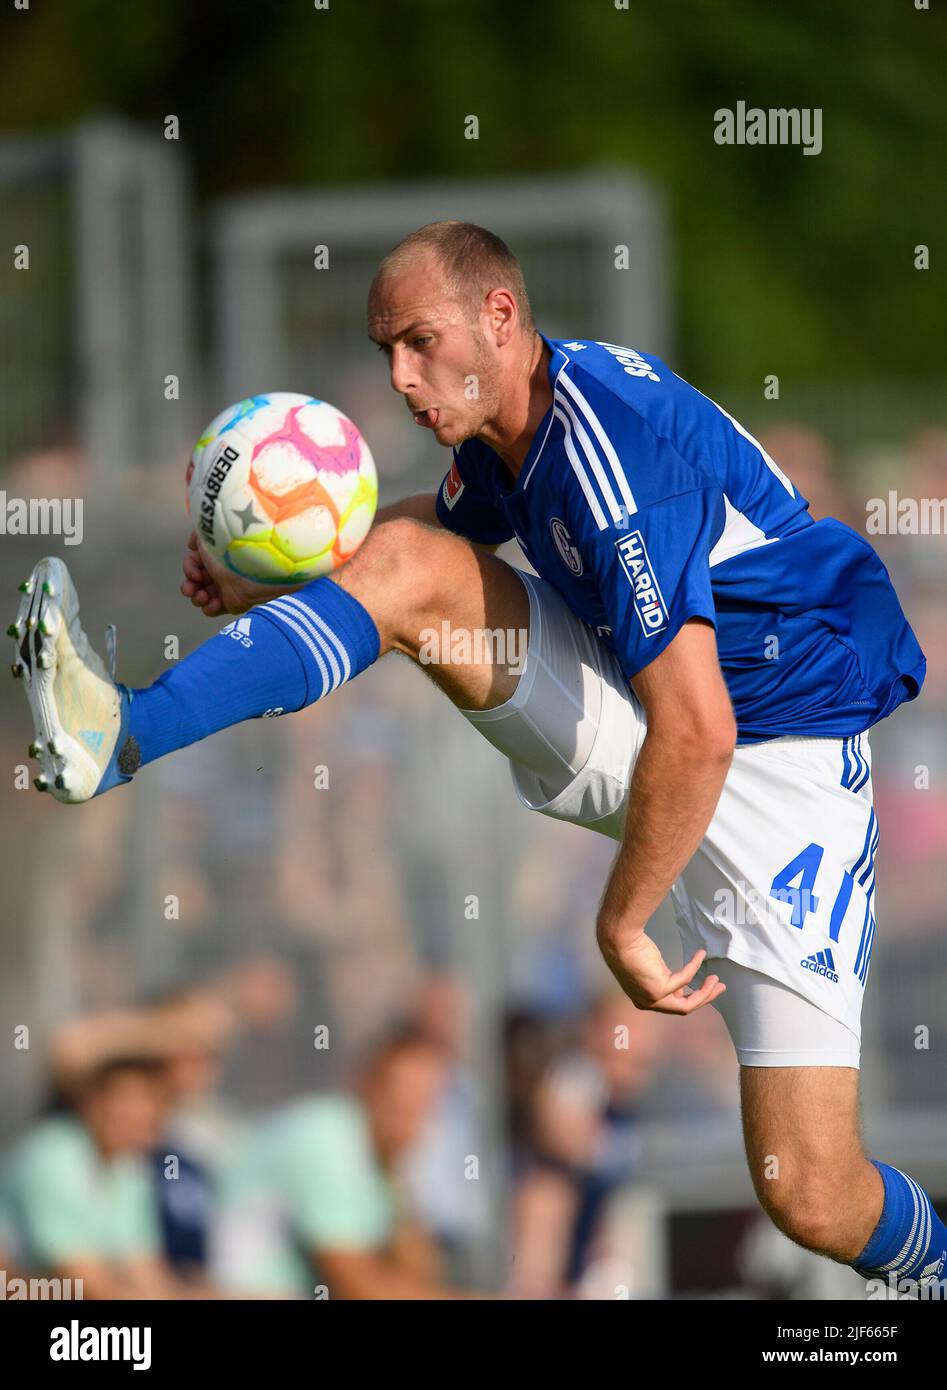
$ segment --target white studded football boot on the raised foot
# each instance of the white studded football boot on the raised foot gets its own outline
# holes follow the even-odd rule
[[[31,758],[38,791],[76,803],[131,781],[140,753],[128,738],[129,696],[89,645],[79,598],[63,560],[47,556],[19,585],[22,599],[7,628],[13,673],[22,680],[33,716]],[[106,634],[114,664],[114,627]]]

